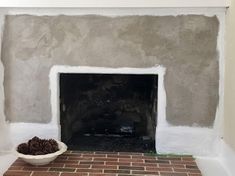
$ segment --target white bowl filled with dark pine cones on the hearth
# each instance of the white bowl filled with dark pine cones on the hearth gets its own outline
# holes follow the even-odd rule
[[[46,165],[63,154],[67,146],[54,139],[40,139],[33,137],[26,143],[19,144],[16,147],[16,154],[23,161],[31,165]]]

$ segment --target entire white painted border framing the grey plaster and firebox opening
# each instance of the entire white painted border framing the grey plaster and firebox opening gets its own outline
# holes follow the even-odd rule
[[[60,138],[59,125],[59,105],[58,105],[58,75],[59,73],[122,73],[122,74],[157,74],[159,76],[158,90],[158,120],[156,129],[156,150],[159,153],[185,153],[196,156],[214,156],[220,149],[220,139],[222,137],[222,114],[223,114],[223,82],[224,82],[224,8],[175,8],[172,10],[166,8],[154,9],[25,9],[10,8],[3,9],[1,12],[1,27],[3,25],[4,15],[6,14],[33,14],[33,15],[82,15],[82,14],[101,14],[108,16],[122,15],[179,15],[179,14],[203,14],[206,16],[216,15],[220,22],[220,32],[218,36],[218,51],[220,53],[220,87],[219,87],[219,105],[216,113],[216,120],[212,128],[202,128],[199,126],[172,126],[166,121],[165,107],[166,93],[164,89],[164,73],[167,68],[156,66],[152,68],[100,68],[100,67],[70,67],[53,66],[50,75],[51,90],[51,108],[52,121],[48,124],[37,123],[6,123],[5,133],[9,135],[13,145],[18,144],[32,136]],[[1,29],[2,33],[2,29]],[[0,113],[3,121],[4,116],[4,92],[3,92],[3,66],[0,69]],[[0,120],[0,122],[2,119]],[[40,129],[40,130],[38,130]],[[2,139],[2,138],[1,138]],[[0,140],[1,140],[0,139]],[[5,148],[6,149],[6,148]]]

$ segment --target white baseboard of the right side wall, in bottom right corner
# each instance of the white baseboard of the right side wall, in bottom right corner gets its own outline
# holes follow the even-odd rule
[[[219,160],[223,167],[227,170],[229,176],[235,175],[235,150],[222,141],[221,153]]]

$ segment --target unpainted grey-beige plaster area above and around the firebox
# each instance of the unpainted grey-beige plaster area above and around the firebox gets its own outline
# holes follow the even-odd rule
[[[166,68],[167,121],[212,126],[219,99],[216,16],[8,15],[2,42],[5,114],[51,120],[53,65]]]

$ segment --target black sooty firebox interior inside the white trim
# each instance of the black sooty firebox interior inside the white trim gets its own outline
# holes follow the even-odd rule
[[[155,151],[157,75],[60,74],[61,138],[69,149]]]

